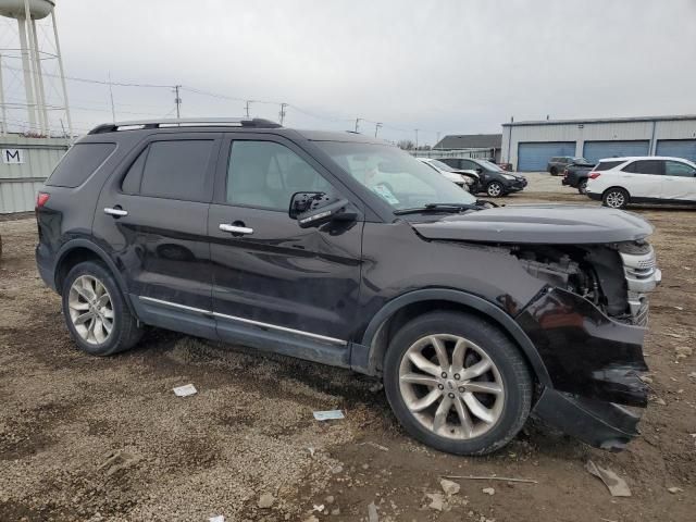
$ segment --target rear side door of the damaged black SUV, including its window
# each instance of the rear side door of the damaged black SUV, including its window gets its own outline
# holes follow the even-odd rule
[[[178,330],[171,311],[212,314],[207,228],[221,138],[150,136],[101,191],[95,235],[108,245],[146,322]],[[163,324],[162,314],[174,324]],[[214,334],[212,319],[199,333]]]

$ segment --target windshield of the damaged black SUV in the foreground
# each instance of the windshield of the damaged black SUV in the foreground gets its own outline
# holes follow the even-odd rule
[[[468,191],[397,147],[347,141],[314,144],[394,210],[428,203],[475,203]]]

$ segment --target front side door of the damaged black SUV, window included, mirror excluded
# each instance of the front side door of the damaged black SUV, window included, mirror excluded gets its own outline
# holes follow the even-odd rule
[[[298,191],[340,195],[358,210],[360,202],[282,137],[234,134],[220,157],[208,221],[220,336],[249,340],[252,328],[276,343],[345,347],[359,299],[362,219],[300,228],[288,209]]]

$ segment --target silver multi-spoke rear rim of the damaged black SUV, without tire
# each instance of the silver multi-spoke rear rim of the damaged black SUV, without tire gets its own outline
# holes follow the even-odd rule
[[[90,345],[103,344],[113,330],[113,303],[107,287],[92,275],[80,275],[67,296],[70,319],[77,334]]]

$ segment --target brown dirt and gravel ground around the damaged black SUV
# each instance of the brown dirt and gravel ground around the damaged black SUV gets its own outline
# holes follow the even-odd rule
[[[596,204],[571,191],[509,198],[534,200]],[[696,211],[637,212],[657,228],[663,271],[643,436],[609,453],[527,424],[473,459],[414,443],[375,383],[349,371],[162,331],[112,358],[76,351],[34,265],[34,220],[0,222],[0,521],[357,521],[371,502],[380,521],[694,520],[696,356],[675,349],[696,344]],[[198,394],[175,397],[187,383]],[[313,420],[334,408],[346,419]],[[588,459],[633,496],[611,497]],[[449,474],[537,483],[462,480],[443,511],[427,507]]]

